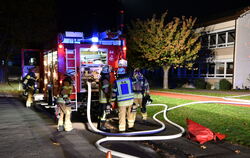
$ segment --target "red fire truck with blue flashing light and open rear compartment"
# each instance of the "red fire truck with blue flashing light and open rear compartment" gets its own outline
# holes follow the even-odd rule
[[[56,97],[65,74],[71,74],[73,111],[86,110],[87,85],[91,82],[92,105],[98,104],[98,80],[104,65],[112,68],[111,82],[118,67],[126,67],[126,40],[121,33],[105,31],[92,37],[84,37],[82,32],[66,31],[58,35],[56,49],[39,53],[39,89],[34,95],[36,104],[46,108],[56,107]],[[24,65],[25,67],[25,65]]]

